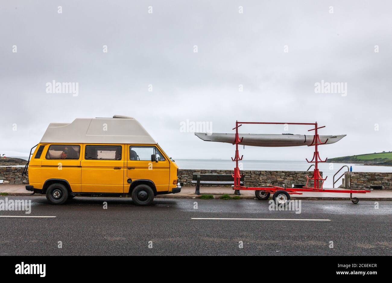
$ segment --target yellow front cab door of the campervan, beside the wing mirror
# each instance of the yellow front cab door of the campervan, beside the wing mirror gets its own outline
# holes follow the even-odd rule
[[[156,191],[169,191],[170,163],[154,145],[127,146],[127,177],[151,180]],[[156,162],[151,162],[155,155]]]

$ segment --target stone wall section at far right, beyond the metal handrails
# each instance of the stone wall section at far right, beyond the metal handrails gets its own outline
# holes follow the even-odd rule
[[[391,172],[346,172],[345,178],[347,177],[349,177],[349,184],[353,189],[363,189],[369,186],[383,186],[383,189],[392,189]]]

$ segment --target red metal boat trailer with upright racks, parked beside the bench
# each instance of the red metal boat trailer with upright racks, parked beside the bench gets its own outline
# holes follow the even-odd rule
[[[242,126],[242,124],[275,124],[275,125],[279,125],[279,124],[286,125],[287,124],[287,125],[312,125],[312,126],[314,126],[313,129],[308,130],[308,132],[314,131],[313,141],[311,142],[310,145],[308,145],[308,146],[314,146],[313,158],[310,161],[308,159],[306,159],[306,161],[308,163],[314,163],[314,170],[313,170],[312,178],[309,178],[308,176],[306,176],[307,177],[306,185],[303,186],[302,188],[285,188],[285,187],[278,187],[278,186],[272,186],[272,185],[270,185],[270,187],[245,187],[245,186],[241,186],[240,178],[243,176],[243,174],[240,173],[240,168],[238,167],[238,161],[243,159],[243,155],[241,155],[241,157],[240,157],[240,153],[238,151],[238,144],[240,144],[240,142],[242,142],[243,137],[242,137],[242,139],[240,139],[240,137],[238,135],[238,128],[240,126]],[[321,129],[324,127],[325,126],[318,127],[317,122],[316,123],[271,123],[271,122],[238,122],[238,121],[236,121],[236,126],[235,126],[235,128],[233,128],[233,130],[236,130],[235,141],[233,143],[236,145],[236,153],[235,153],[235,157],[231,158],[232,161],[236,162],[236,167],[234,168],[234,174],[232,174],[232,177],[234,178],[233,190],[264,191],[265,193],[274,193],[274,194],[277,192],[283,191],[283,192],[286,192],[285,194],[288,194],[287,195],[288,199],[290,199],[289,195],[292,195],[292,194],[302,195],[301,192],[349,193],[350,200],[354,204],[357,204],[359,202],[359,200],[358,200],[358,198],[353,198],[352,194],[353,193],[363,193],[363,194],[370,193],[371,190],[323,189],[323,184],[324,184],[324,181],[327,180],[327,177],[325,177],[325,179],[323,179],[321,177],[320,171],[318,169],[318,163],[327,162],[327,159],[322,160],[320,158],[318,146],[326,144],[328,139],[325,142],[321,142],[319,135],[318,135],[318,129]],[[313,183],[314,183],[313,187],[308,186],[309,180],[313,180]],[[274,197],[274,200],[276,201],[275,197]],[[284,201],[286,201],[286,200],[284,200]]]

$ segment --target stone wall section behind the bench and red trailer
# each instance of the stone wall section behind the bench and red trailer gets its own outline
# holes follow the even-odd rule
[[[179,182],[183,182],[184,186],[195,186],[191,183],[192,175],[196,174],[232,174],[232,170],[202,170],[202,169],[180,169],[178,172]],[[269,185],[279,187],[291,187],[292,184],[306,184],[306,176],[312,177],[313,171],[261,171],[261,170],[245,170],[241,171],[245,174],[244,185],[247,187],[267,187]],[[320,172],[321,176],[323,175]],[[308,186],[313,186],[313,182],[309,182]]]

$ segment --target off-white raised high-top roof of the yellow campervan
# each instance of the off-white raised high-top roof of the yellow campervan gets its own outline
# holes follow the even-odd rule
[[[50,123],[40,142],[156,144],[136,119],[120,115]]]

